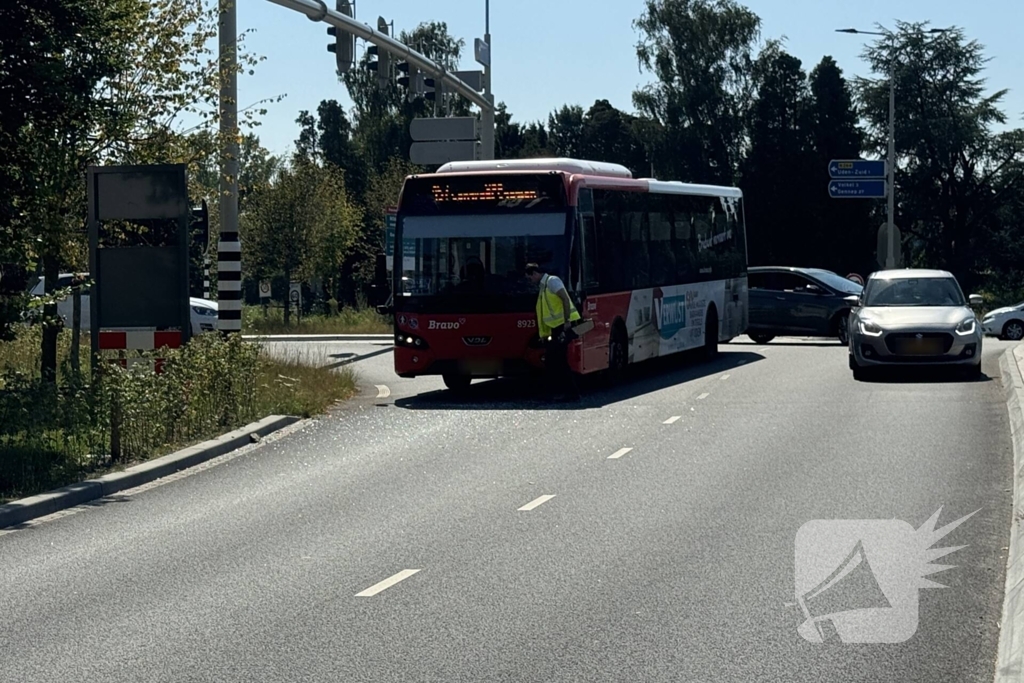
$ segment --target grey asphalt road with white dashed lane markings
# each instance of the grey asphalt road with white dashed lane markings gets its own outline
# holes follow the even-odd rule
[[[558,408],[346,356],[368,398],[0,536],[0,680],[990,681],[1006,346],[982,381],[858,383],[837,344],[737,340]],[[327,350],[365,355],[345,347]],[[936,544],[966,546],[929,577],[947,588],[899,603],[909,639],[798,634],[795,571],[846,553],[818,537],[798,559],[805,522],[918,528],[940,508],[940,526],[977,513]],[[924,546],[888,565],[866,548],[887,596]],[[862,606],[863,575],[826,597]]]

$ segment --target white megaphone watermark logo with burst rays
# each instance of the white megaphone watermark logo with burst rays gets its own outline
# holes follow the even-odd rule
[[[901,643],[913,636],[919,589],[946,588],[926,577],[954,566],[932,561],[967,547],[932,546],[978,510],[936,529],[940,512],[918,529],[899,519],[816,519],[801,526],[800,635],[812,643]]]

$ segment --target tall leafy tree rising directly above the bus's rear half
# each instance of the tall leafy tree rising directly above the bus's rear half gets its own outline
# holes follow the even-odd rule
[[[655,82],[633,102],[658,124],[648,132],[660,133],[652,148],[663,176],[734,181],[760,26],[733,0],[645,0],[637,57]]]

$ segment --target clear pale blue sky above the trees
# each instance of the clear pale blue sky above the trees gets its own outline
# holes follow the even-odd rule
[[[825,54],[847,77],[868,76],[861,50],[869,36],[835,33],[853,27],[873,30],[895,20],[931,22],[963,28],[986,48],[990,89],[1010,88],[1005,110],[1013,127],[1024,125],[1024,0],[746,0],[762,19],[762,39],[785,38],[791,53],[810,70]],[[330,2],[329,5],[333,5]],[[632,23],[642,0],[492,0],[490,33],[494,92],[514,121],[546,121],[566,103],[588,108],[595,99],[632,112],[633,90],[649,80],[637,67],[637,34]],[[327,25],[267,0],[239,2],[239,29],[254,29],[249,49],[266,56],[255,76],[239,81],[245,106],[265,97],[287,97],[269,106],[257,129],[272,153],[288,152],[297,136],[301,110],[314,111],[322,99],[348,108],[344,86],[327,51]],[[376,26],[378,15],[395,31],[421,22],[443,20],[466,41],[463,69],[476,69],[473,39],[483,36],[484,0],[357,0],[356,18]],[[364,43],[358,42],[358,49]],[[897,102],[897,108],[899,102]]]

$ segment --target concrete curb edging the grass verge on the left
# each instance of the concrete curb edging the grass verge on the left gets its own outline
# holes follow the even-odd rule
[[[253,434],[263,437],[298,421],[297,417],[271,415],[217,438],[146,461],[122,472],[104,474],[95,479],[73,483],[45,494],[0,505],[0,528],[23,524],[38,517],[73,508],[76,505],[156,481],[169,474],[195,467],[248,445],[252,442]]]

